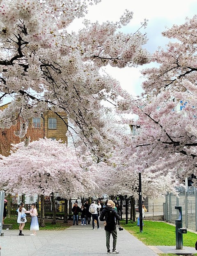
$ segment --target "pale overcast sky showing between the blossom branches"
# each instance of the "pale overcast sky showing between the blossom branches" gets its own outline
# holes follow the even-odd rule
[[[133,11],[132,21],[122,29],[125,33],[135,32],[140,27],[140,22],[144,18],[149,19],[147,29],[147,37],[149,42],[145,46],[150,53],[153,53],[158,46],[165,47],[169,41],[161,36],[161,32],[166,28],[171,28],[173,24],[182,24],[188,16],[192,18],[197,11],[197,1],[187,0],[102,0],[98,5],[89,7],[89,13],[86,19],[99,23],[103,21],[119,21],[119,17],[128,9]],[[70,30],[77,31],[82,26],[82,19],[78,19],[72,23]],[[119,69],[115,67],[106,67],[106,71],[119,80],[121,86],[132,95],[139,95],[142,92],[141,84],[143,78],[140,77],[140,70],[154,64],[143,65],[138,68]],[[10,100],[5,100],[4,103]]]

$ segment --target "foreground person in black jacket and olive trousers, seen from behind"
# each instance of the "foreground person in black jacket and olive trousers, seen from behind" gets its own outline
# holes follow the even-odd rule
[[[107,254],[119,254],[119,251],[116,249],[117,244],[117,229],[115,219],[119,220],[120,216],[117,214],[115,209],[112,208],[113,201],[109,200],[108,204],[103,211],[101,212],[100,221],[104,221],[105,226],[105,235],[106,235],[106,247]],[[110,251],[110,235],[113,237],[113,249]]]

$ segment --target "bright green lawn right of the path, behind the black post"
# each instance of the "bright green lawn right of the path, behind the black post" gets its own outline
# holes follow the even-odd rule
[[[165,222],[144,220],[143,222],[143,233],[140,233],[140,228],[137,227],[136,222],[133,223],[128,221],[128,224],[126,225],[125,221],[122,220],[121,226],[146,245],[176,246],[174,226],[171,226]],[[187,234],[183,234],[183,246],[195,247],[196,240],[197,235],[195,233],[188,232]]]

